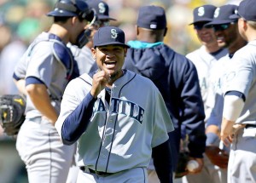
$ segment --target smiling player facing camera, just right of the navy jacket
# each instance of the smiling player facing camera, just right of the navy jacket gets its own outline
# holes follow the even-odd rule
[[[226,49],[221,49],[218,47],[212,27],[206,27],[207,23],[212,21],[215,9],[215,6],[205,4],[193,10],[194,21],[190,25],[194,26],[195,33],[202,46],[201,48],[195,49],[195,51],[186,55],[186,57],[195,64],[204,103],[207,100],[209,87],[208,77],[211,75],[212,66],[218,62],[218,59],[227,54]],[[206,106],[205,112],[205,121],[207,121],[209,112]]]

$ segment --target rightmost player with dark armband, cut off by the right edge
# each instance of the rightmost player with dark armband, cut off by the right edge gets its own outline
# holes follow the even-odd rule
[[[238,30],[248,43],[236,51],[226,72],[221,140],[230,147],[228,182],[256,182],[256,8],[243,0]]]

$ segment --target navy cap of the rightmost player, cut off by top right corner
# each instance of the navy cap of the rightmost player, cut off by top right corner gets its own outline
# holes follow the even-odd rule
[[[230,19],[238,19],[240,17],[248,21],[256,21],[255,0],[243,0],[236,10],[236,14],[232,14]]]

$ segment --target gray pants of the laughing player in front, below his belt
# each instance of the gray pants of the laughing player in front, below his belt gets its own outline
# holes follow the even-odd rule
[[[108,176],[98,176],[79,170],[77,183],[148,183],[147,170],[143,168],[127,169]]]

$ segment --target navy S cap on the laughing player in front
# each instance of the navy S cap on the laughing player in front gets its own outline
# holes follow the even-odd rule
[[[130,48],[125,44],[125,32],[115,26],[100,27],[93,37],[93,43],[94,47],[116,44]]]

